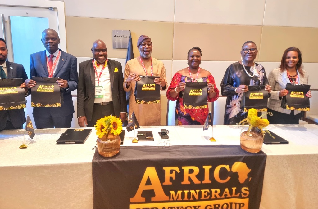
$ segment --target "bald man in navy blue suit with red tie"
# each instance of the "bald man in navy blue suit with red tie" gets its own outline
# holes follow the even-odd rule
[[[59,77],[59,87],[63,88],[61,107],[34,107],[33,118],[37,128],[70,128],[74,113],[71,92],[77,89],[77,59],[58,48],[59,35],[53,29],[45,29],[41,39],[45,51],[30,56],[30,76]],[[33,80],[26,80],[27,88],[36,85]]]

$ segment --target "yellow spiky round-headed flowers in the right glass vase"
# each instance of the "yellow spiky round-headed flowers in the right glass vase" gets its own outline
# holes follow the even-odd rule
[[[273,113],[271,112],[267,112],[266,114],[273,115]],[[262,118],[264,115],[261,115],[260,117],[257,116],[257,110],[254,108],[251,108],[248,110],[247,118],[239,122],[238,125],[249,124],[250,126],[248,127],[248,130],[247,130],[248,132],[250,132],[254,128],[258,128],[262,132],[263,136],[266,131],[271,137],[273,137],[271,133],[265,128],[267,125],[269,125],[269,121],[267,119]],[[263,129],[265,129],[265,131]]]

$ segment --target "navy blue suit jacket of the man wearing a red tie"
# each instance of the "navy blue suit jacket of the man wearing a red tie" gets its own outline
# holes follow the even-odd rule
[[[63,104],[61,107],[34,107],[33,115],[61,117],[74,113],[74,106],[71,92],[77,89],[77,59],[71,54],[62,50],[59,64],[53,77],[67,80],[68,89],[63,90]],[[46,51],[39,51],[30,55],[30,76],[49,77],[46,64]]]

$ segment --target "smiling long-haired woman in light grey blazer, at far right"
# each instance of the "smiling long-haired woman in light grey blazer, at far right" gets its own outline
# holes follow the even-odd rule
[[[267,115],[270,124],[299,124],[301,111],[286,110],[280,107],[281,99],[287,95],[287,83],[308,84],[308,73],[302,69],[301,51],[296,47],[289,47],[285,50],[279,68],[270,71],[268,75],[269,85],[272,87],[271,96],[268,100]],[[311,98],[311,92],[306,93]]]

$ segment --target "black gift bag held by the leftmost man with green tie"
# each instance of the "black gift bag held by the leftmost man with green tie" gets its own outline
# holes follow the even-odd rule
[[[0,111],[25,108],[25,92],[20,89],[23,78],[0,79]]]

